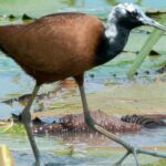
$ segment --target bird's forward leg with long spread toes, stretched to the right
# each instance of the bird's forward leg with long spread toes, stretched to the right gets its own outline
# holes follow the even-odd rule
[[[97,125],[95,123],[95,121],[91,117],[90,110],[89,110],[87,102],[86,102],[86,96],[85,96],[85,91],[84,91],[83,83],[80,83],[79,80],[76,80],[76,82],[79,84],[79,89],[80,89],[80,93],[81,93],[81,97],[82,97],[85,123],[89,125],[89,127],[91,127],[94,131],[97,131],[98,133],[105,135],[106,137],[111,138],[112,141],[116,142],[117,144],[121,144],[122,146],[124,146],[127,149],[127,153],[116,163],[116,165],[121,165],[122,162],[129,154],[134,155],[136,166],[141,166],[139,163],[138,163],[138,159],[137,159],[137,154],[139,154],[139,153],[156,156],[156,157],[166,158],[166,154],[160,154],[160,153],[156,153],[156,152],[148,152],[148,151],[143,151],[143,149],[136,148],[136,147],[129,145],[128,143],[124,142],[123,139],[118,138],[116,135],[112,134],[111,132],[108,132],[108,131],[104,129],[103,127],[101,127],[100,125]]]

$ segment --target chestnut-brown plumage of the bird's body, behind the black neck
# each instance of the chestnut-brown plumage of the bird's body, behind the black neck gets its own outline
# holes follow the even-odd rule
[[[103,34],[104,27],[97,18],[61,13],[30,24],[0,27],[0,45],[42,84],[93,68]]]

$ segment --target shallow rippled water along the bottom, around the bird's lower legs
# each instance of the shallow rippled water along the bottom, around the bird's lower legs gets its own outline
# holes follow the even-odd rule
[[[154,133],[157,133],[154,134]],[[134,146],[146,147],[147,149],[163,151],[165,147],[165,128],[143,129],[136,134],[116,134]],[[158,139],[159,137],[159,139]],[[42,162],[49,166],[53,165],[110,165],[123,155],[124,149],[110,139],[98,134],[63,134],[61,136],[37,137],[38,146],[41,151]],[[30,145],[24,136],[13,136],[3,134],[0,143],[7,144],[17,163],[17,166],[30,166],[33,163],[33,155]],[[72,152],[70,148],[72,147]],[[152,163],[156,158],[141,156],[143,164]],[[31,162],[28,162],[31,160]],[[50,163],[50,164],[49,164]],[[125,164],[133,166],[133,158],[129,157]]]

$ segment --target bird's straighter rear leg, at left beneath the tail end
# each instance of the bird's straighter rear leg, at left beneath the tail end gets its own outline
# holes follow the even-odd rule
[[[32,131],[31,131],[31,113],[30,113],[30,108],[31,108],[31,105],[32,105],[32,103],[34,101],[34,97],[37,96],[37,93],[38,93],[39,89],[40,89],[39,85],[34,86],[32,95],[31,95],[28,104],[25,105],[24,110],[22,111],[22,122],[23,122],[24,128],[25,128],[27,134],[28,134],[28,138],[30,141],[30,144],[31,144],[34,157],[35,157],[35,166],[40,166],[40,153],[39,153],[39,149],[37,147],[37,144],[35,144],[35,141],[34,141],[34,137],[33,137],[33,134],[32,134]]]

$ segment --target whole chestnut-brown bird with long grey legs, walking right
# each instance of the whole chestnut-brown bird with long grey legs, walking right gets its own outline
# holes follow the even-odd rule
[[[134,155],[137,166],[139,166],[137,159],[139,153],[166,157],[160,153],[135,148],[97,125],[91,117],[84,90],[84,73],[120,54],[128,40],[129,32],[141,25],[166,31],[164,25],[132,3],[115,6],[108,14],[106,24],[87,13],[61,12],[44,15],[28,24],[0,27],[0,50],[35,81],[32,95],[21,113],[35,166],[41,166],[42,162],[31,131],[31,105],[42,84],[70,76],[79,86],[86,125],[126,148],[126,154],[116,162],[116,165],[121,165],[129,154]]]

